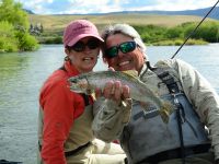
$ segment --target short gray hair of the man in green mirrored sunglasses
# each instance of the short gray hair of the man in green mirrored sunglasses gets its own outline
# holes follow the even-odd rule
[[[106,42],[107,37],[114,34],[124,34],[129,37],[132,37],[136,44],[139,46],[140,50],[142,54],[146,52],[146,45],[143,44],[140,35],[138,32],[130,25],[128,24],[115,24],[115,25],[110,25],[107,26],[103,32],[102,32],[102,38],[104,39],[104,43]],[[146,56],[146,54],[145,54]]]

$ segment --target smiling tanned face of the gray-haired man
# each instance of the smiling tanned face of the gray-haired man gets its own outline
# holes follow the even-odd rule
[[[127,42],[130,43],[124,44]],[[140,72],[145,62],[145,58],[143,54],[137,45],[131,48],[131,46],[134,46],[132,42],[134,39],[131,37],[123,34],[114,34],[107,37],[105,60],[107,61],[108,67],[113,67],[117,71],[137,70],[138,72]],[[120,44],[124,45],[120,46]],[[114,46],[117,46],[117,48],[115,48]],[[124,52],[120,50],[120,48],[118,48],[119,46],[123,47]],[[111,49],[112,47],[114,47],[114,50]],[[116,50],[117,52],[115,52]],[[115,56],[113,58],[108,58],[107,51],[108,55],[111,55],[111,52],[113,51]]]

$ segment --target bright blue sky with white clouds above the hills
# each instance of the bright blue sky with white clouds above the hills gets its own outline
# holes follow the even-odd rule
[[[218,0],[15,0],[36,14],[90,14],[142,10],[194,10]]]

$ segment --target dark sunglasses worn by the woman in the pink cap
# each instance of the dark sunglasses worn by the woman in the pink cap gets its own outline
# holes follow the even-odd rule
[[[99,39],[89,39],[88,43],[78,42],[73,46],[69,47],[70,49],[73,49],[74,51],[81,52],[85,50],[85,47],[89,47],[89,49],[96,49],[100,47]]]

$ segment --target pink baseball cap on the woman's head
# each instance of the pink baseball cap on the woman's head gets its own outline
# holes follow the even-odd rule
[[[93,36],[100,42],[104,42],[99,35],[96,26],[87,20],[77,20],[68,24],[64,32],[64,46],[73,46],[83,37]]]

